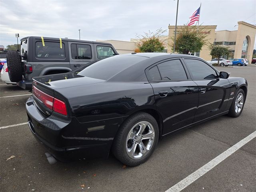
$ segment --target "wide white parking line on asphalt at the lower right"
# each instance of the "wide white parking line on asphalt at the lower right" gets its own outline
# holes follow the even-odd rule
[[[220,162],[225,160],[228,156],[236,152],[236,150],[240,149],[242,146],[244,146],[246,143],[248,143],[250,140],[256,137],[256,131],[254,131],[252,134],[248,135],[246,138],[242,139],[237,144],[230,147],[228,150],[224,151],[222,154],[196,170],[194,173],[190,174],[174,186],[172,186],[170,189],[166,190],[166,192],[180,192],[190,184],[192,184],[194,181],[196,181],[198,178],[206,174],[208,171],[210,171],[212,168],[214,168],[216,165],[218,165]]]

